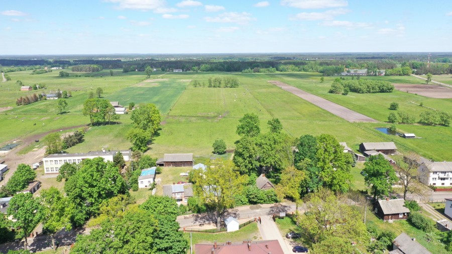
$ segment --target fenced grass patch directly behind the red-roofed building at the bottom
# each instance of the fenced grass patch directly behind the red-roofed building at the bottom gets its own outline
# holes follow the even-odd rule
[[[246,239],[250,240],[261,240],[261,234],[256,223],[250,223],[247,226],[242,227],[239,231],[235,232],[220,232],[220,233],[191,233],[193,253],[194,246],[196,243],[212,243],[216,241],[218,244],[224,243],[226,241],[239,242]],[[184,233],[185,239],[187,239],[188,244],[190,244],[190,233]]]

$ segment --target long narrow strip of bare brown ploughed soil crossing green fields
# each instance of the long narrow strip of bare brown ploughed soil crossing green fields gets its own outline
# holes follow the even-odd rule
[[[295,94],[296,96],[311,102],[312,104],[325,109],[326,111],[335,114],[341,118],[344,118],[350,122],[378,122],[375,119],[370,118],[364,114],[360,114],[344,106],[338,105],[327,99],[321,98],[317,95],[305,92],[301,89],[288,85],[280,81],[268,81],[274,85],[281,87],[282,89]]]

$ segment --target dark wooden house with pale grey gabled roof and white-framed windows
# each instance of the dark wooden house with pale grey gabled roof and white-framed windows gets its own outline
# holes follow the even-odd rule
[[[407,219],[410,210],[405,207],[405,200],[403,198],[386,198],[385,200],[378,200],[378,202],[375,203],[375,213],[384,221],[392,221]]]

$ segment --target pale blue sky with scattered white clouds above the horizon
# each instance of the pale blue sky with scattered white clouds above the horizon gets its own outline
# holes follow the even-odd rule
[[[0,55],[451,52],[451,0],[0,0]]]

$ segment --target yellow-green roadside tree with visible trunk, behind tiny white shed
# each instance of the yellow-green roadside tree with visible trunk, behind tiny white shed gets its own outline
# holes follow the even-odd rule
[[[221,216],[235,205],[235,195],[240,193],[246,183],[246,176],[232,161],[220,159],[208,165],[206,170],[192,170],[194,191],[207,207],[215,212],[216,228],[220,229]]]

